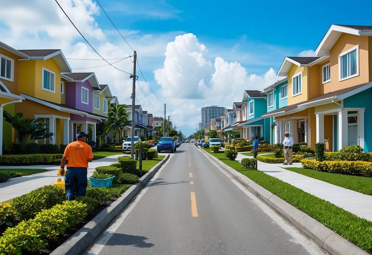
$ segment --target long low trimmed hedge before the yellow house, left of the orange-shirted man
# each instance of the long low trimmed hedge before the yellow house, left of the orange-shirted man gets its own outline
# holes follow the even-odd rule
[[[0,165],[59,164],[63,154],[0,155]]]

